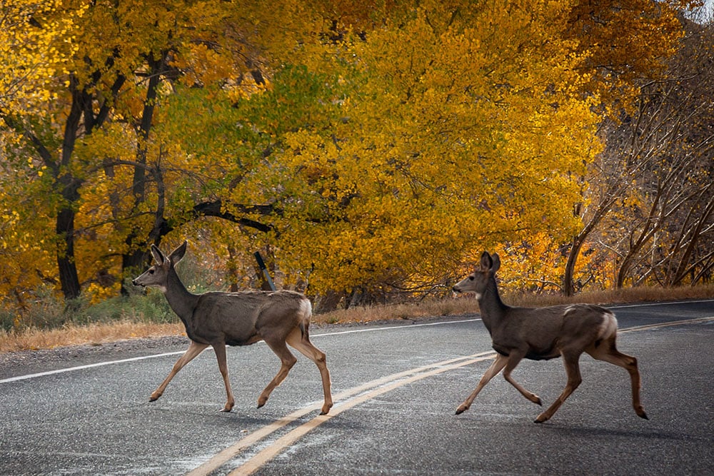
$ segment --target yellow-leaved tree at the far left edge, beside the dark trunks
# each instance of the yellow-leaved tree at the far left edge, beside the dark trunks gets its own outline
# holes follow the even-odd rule
[[[59,15],[60,10],[60,1],[0,6],[0,275],[6,294],[20,305],[21,290],[54,282],[53,255],[58,264],[65,257],[64,248],[53,250],[53,233],[41,226],[56,205],[46,200],[48,179],[63,173],[61,161],[46,161],[44,139],[55,126],[47,106],[59,100],[57,91],[67,81],[65,64],[76,54],[75,24],[83,14],[77,9]],[[61,148],[61,138],[49,142]],[[24,143],[38,154],[24,154]]]

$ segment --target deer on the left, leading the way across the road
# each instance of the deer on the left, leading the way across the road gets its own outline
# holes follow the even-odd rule
[[[132,280],[136,286],[159,288],[164,293],[171,309],[186,327],[186,335],[191,341],[186,353],[176,361],[149,401],[158,400],[178,371],[210,345],[216,353],[218,370],[226,385],[227,400],[221,411],[230,412],[235,399],[228,381],[226,345],[251,345],[263,340],[280,358],[281,368],[258,397],[258,408],[266,404],[271,392],[297,362],[288,349],[289,344],[312,360],[320,370],[324,392],[321,415],[326,415],[333,405],[330,373],[325,353],[310,342],[308,325],[312,305],[306,295],[291,290],[190,293],[176,273],[176,264],[186,253],[187,244],[184,241],[168,257],[156,245],[151,245],[156,264]]]

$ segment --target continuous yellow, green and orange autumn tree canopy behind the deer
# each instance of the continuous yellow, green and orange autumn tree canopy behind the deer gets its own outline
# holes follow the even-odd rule
[[[101,299],[184,237],[238,288],[258,249],[313,294],[534,265],[582,234],[598,131],[687,5],[6,1],[0,287]]]

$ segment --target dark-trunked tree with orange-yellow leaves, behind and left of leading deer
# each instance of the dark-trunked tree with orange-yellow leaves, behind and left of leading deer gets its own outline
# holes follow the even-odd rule
[[[4,8],[21,9],[25,3],[12,0]],[[272,29],[279,29],[302,20],[303,27],[311,29],[310,21],[294,16],[278,24],[279,14],[272,7],[252,5],[237,9],[226,2],[70,1],[21,17],[31,28],[25,36],[21,29],[13,31],[32,49],[46,53],[64,51],[66,44],[74,46],[52,65],[52,71],[38,69],[36,76],[45,83],[38,86],[21,79],[39,101],[4,103],[2,111],[11,129],[4,131],[24,138],[9,153],[29,154],[32,166],[46,170],[37,181],[43,193],[30,188],[27,192],[34,196],[36,208],[54,221],[51,243],[56,244],[57,271],[53,274],[65,298],[78,297],[79,275],[101,273],[96,266],[106,263],[105,258],[121,255],[125,268],[138,265],[144,243],[157,241],[166,232],[163,228],[157,236],[156,224],[147,227],[142,217],[147,213],[146,179],[156,176],[154,164],[165,156],[162,144],[152,140],[151,130],[156,111],[171,93],[171,82],[186,79],[189,86],[203,86],[236,83],[241,74],[258,78],[260,56],[251,41],[256,22],[267,21]],[[65,18],[75,21],[56,27]],[[250,28],[241,29],[246,25]],[[36,30],[42,33],[35,34]],[[14,68],[14,63],[8,65]],[[154,158],[149,160],[149,154]],[[126,177],[130,177],[128,186]],[[102,200],[84,199],[99,198],[102,191],[106,192]],[[223,213],[220,204],[195,205],[197,214]],[[92,242],[107,237],[103,224],[112,228],[111,239],[107,246],[97,247]],[[39,222],[36,228],[47,225]],[[78,243],[84,243],[81,256],[76,254]]]

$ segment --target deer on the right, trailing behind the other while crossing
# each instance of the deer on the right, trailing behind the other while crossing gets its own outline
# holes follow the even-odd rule
[[[524,397],[543,405],[540,397],[521,387],[511,373],[524,358],[549,360],[562,357],[568,381],[553,405],[535,418],[542,423],[553,417],[565,399],[582,382],[578,361],[588,353],[597,360],[618,365],[630,374],[632,405],[635,413],[648,420],[640,402],[640,373],[637,359],[620,353],[615,340],[618,321],[608,309],[591,304],[554,305],[546,308],[518,308],[506,305],[498,294],[496,271],[501,267],[498,254],[484,251],[473,273],[453,286],[455,293],[475,293],[481,320],[491,335],[496,359],[478,382],[476,390],[456,409],[459,415],[471,407],[481,389],[503,370],[503,377]]]

